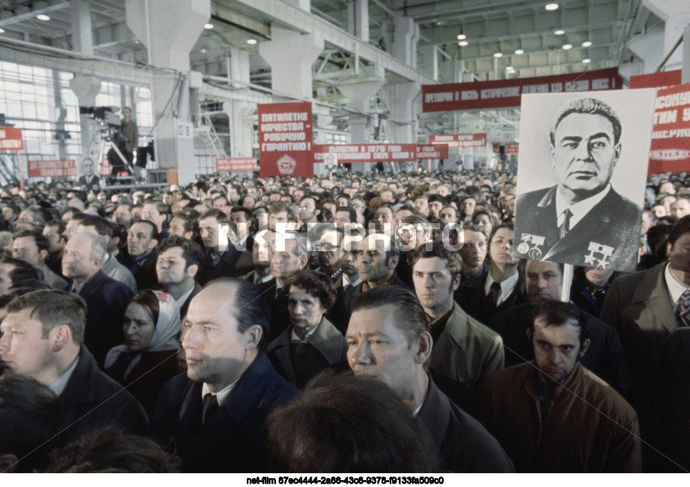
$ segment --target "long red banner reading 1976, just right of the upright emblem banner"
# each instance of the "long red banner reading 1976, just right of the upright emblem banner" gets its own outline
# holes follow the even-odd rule
[[[327,154],[337,155],[338,162],[388,162],[416,161],[415,143],[362,143],[336,146],[317,144],[314,146],[314,161],[323,162]]]

